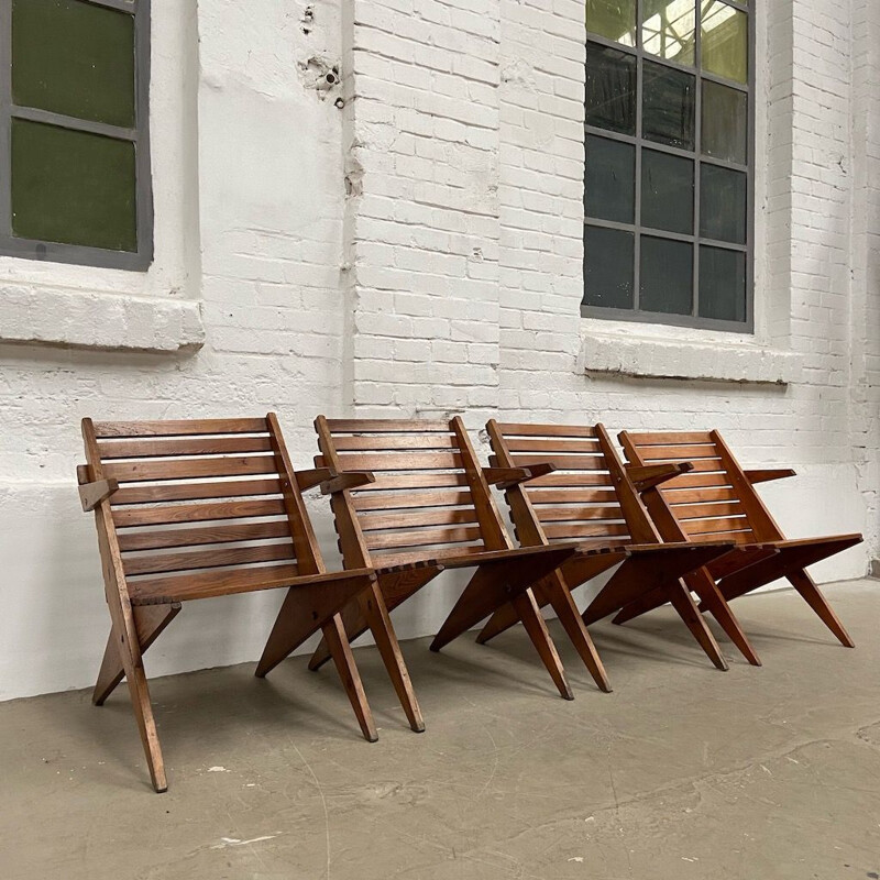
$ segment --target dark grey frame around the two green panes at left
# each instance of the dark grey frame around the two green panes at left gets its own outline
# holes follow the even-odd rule
[[[12,2],[0,0],[0,255],[99,268],[146,271],[153,262],[153,185],[150,160],[151,0],[79,0],[134,18],[134,128],[77,119],[12,102]],[[12,119],[123,140],[134,145],[138,250],[110,251],[85,244],[23,239],[12,234]]]

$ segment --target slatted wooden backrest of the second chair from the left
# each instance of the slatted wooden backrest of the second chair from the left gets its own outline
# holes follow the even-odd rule
[[[348,566],[397,565],[512,547],[468,431],[450,421],[315,420],[315,464],[375,482],[331,504]]]

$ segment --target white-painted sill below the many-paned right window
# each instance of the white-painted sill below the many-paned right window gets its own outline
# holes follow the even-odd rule
[[[587,374],[784,386],[803,373],[803,358],[796,352],[728,341],[724,334],[661,339],[596,332],[587,326],[582,340],[580,362]]]

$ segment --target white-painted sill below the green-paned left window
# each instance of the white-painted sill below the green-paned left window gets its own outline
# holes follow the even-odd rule
[[[193,300],[7,284],[0,342],[174,353],[200,349],[205,328]]]

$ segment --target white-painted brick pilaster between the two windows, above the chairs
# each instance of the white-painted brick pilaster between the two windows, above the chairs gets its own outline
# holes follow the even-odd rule
[[[499,30],[495,0],[353,0],[359,413],[497,403]]]

